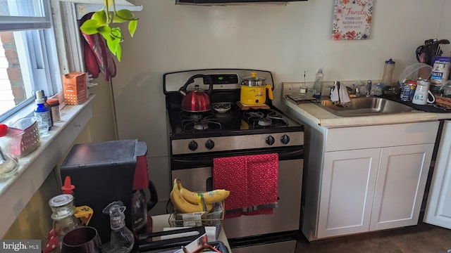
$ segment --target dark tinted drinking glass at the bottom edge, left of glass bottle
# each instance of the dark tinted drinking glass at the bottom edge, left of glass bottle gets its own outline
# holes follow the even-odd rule
[[[101,241],[95,228],[75,228],[63,238],[62,253],[101,253]]]

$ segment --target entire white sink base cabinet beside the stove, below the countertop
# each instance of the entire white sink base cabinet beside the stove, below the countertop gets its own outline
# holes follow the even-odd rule
[[[418,223],[438,121],[335,129],[304,122],[308,240]]]

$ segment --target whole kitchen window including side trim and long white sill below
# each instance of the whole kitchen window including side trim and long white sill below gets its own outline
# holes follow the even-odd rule
[[[63,18],[67,13],[60,6],[59,0],[0,0],[1,123],[32,115],[36,90],[44,90],[48,97],[62,94],[61,74],[80,71],[68,63],[75,58],[81,63],[81,56],[68,52],[71,45],[66,44],[66,30],[71,22],[66,22],[70,20],[66,15]],[[71,35],[78,34],[76,29],[72,31]],[[85,128],[92,117],[94,97],[89,96],[82,105],[64,106],[61,121],[52,126],[51,134],[42,136],[32,153],[18,158],[13,176],[0,181],[0,203],[13,207],[1,213],[0,238]]]

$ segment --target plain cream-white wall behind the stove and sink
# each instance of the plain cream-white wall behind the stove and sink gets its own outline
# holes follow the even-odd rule
[[[370,39],[365,41],[330,39],[333,0],[226,7],[136,2],[144,8],[137,13],[137,34],[126,37],[113,79],[118,131],[122,139],[146,141],[161,200],[168,199],[170,186],[163,73],[221,67],[270,70],[278,105],[281,83],[303,81],[304,70],[307,82],[319,67],[328,81],[380,79],[384,61],[393,58],[397,77],[406,65],[416,63],[414,51],[426,39],[451,39],[449,0],[375,0]],[[449,56],[450,47],[445,50]]]

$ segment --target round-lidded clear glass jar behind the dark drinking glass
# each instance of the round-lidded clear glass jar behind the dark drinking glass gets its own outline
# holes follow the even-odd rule
[[[73,195],[61,194],[52,197],[49,206],[52,212],[51,219],[54,220],[53,228],[58,236],[58,249],[61,249],[64,235],[82,225],[80,219],[74,216]]]

